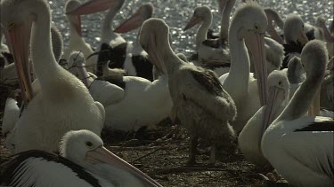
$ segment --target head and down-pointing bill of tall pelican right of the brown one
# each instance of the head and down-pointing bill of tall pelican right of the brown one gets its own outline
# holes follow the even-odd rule
[[[256,2],[240,4],[232,17],[229,40],[237,35],[245,40],[254,59],[257,89],[261,105],[268,102],[267,67],[265,59],[265,31],[268,21],[264,9]],[[229,41],[232,43],[232,41]]]

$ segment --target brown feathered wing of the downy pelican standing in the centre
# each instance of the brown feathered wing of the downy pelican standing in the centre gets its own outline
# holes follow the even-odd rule
[[[189,81],[185,81],[182,89],[183,97],[190,99],[216,118],[231,121],[236,115],[236,107],[230,95],[223,89],[216,74],[202,68],[190,71]],[[195,81],[196,85],[191,84]]]

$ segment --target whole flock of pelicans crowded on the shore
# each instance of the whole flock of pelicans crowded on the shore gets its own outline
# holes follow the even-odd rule
[[[218,0],[219,34],[209,30],[208,6],[184,24],[184,31],[200,25],[186,58],[172,49],[166,22],[152,18],[151,3],[114,29],[124,3],[67,1],[63,50],[45,0],[1,1],[8,47],[1,43],[0,82],[17,83],[22,100],[5,104],[2,135],[14,155],[2,165],[1,185],[161,186],[104,148],[100,136],[166,118],[188,130],[189,165],[200,138],[211,145],[210,163],[218,147],[238,146],[292,185],[333,185],[333,24],[318,18],[312,26],[296,14],[283,20],[253,1],[232,12],[235,0]],[[107,10],[94,51],[81,15]],[[121,36],[137,28],[134,45]]]

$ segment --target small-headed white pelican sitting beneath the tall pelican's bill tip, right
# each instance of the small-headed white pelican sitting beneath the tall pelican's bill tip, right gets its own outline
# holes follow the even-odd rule
[[[261,139],[265,132],[264,116],[270,113],[269,122],[273,121],[289,102],[289,81],[284,72],[275,70],[269,74],[268,87],[271,96],[269,104],[262,106],[249,119],[238,136],[238,145],[243,156],[257,166],[270,165],[261,151]]]

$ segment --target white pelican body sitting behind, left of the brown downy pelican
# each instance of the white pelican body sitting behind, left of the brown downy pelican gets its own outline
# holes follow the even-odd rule
[[[119,78],[114,74],[108,66],[104,66],[100,79],[121,87],[124,97],[118,103],[105,105],[105,128],[122,131],[152,128],[172,112],[166,73],[153,82],[137,76]]]

